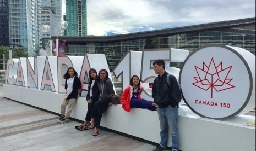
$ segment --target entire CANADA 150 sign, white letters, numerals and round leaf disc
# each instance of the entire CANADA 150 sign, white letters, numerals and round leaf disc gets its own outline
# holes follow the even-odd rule
[[[122,90],[132,75],[138,75],[145,88],[143,98],[152,100],[149,83],[157,76],[152,65],[156,59],[165,60],[165,70],[179,79],[184,101],[201,117],[225,119],[255,107],[255,56],[247,50],[208,45],[189,56],[188,50],[172,48],[130,51],[113,69],[122,79]],[[180,70],[168,67],[170,62],[184,63]],[[65,93],[62,77],[68,67],[78,72],[85,91],[90,68],[110,71],[105,55],[28,57],[8,60],[7,79],[17,86]]]

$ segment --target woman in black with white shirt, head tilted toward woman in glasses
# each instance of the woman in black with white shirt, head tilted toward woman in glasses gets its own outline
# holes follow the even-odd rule
[[[80,126],[75,126],[75,129],[83,131],[83,130],[89,130],[90,129],[90,123],[91,121],[91,113],[92,109],[94,108],[95,102],[98,100],[99,95],[97,94],[97,71],[94,68],[91,68],[89,71],[89,85],[88,85],[88,92],[86,95],[86,100],[88,102],[88,110],[85,116],[84,124]],[[92,128],[92,127],[91,127]]]

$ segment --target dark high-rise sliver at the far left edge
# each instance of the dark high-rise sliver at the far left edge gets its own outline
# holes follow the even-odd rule
[[[0,1],[0,45],[9,46],[9,3]]]

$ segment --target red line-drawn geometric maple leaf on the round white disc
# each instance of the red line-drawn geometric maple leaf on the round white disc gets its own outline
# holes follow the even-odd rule
[[[209,66],[203,62],[203,68],[194,66],[197,71],[198,77],[194,77],[195,83],[193,85],[205,91],[211,90],[211,98],[213,98],[213,91],[224,91],[227,89],[234,88],[230,82],[233,80],[228,78],[228,74],[231,71],[232,66],[223,68],[222,62],[216,65],[214,59],[211,58]]]

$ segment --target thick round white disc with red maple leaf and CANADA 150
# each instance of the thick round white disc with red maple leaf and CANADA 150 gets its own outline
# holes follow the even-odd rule
[[[207,45],[184,61],[179,82],[188,107],[201,117],[226,119],[255,108],[255,55]]]

